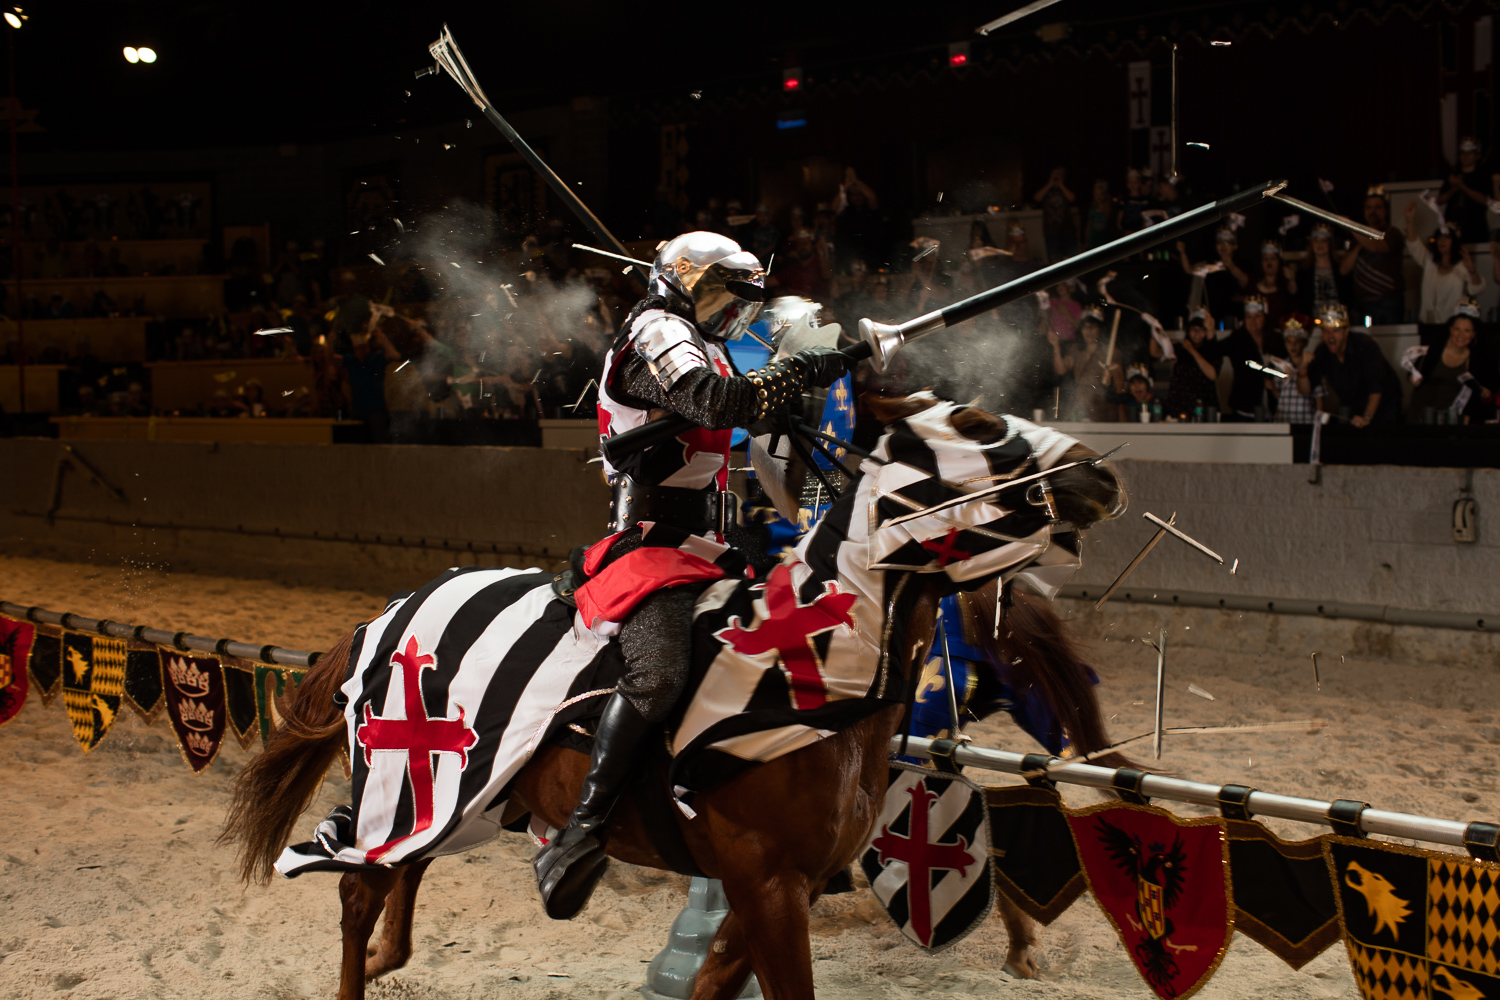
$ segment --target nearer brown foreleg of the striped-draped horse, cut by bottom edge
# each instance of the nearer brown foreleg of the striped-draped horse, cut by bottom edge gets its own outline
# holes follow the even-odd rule
[[[807,876],[780,871],[771,876],[724,877],[723,883],[729,913],[740,918],[740,937],[748,951],[750,967],[760,979],[765,999],[813,1000],[813,946],[808,939],[813,892]],[[729,943],[726,939],[726,946]],[[724,955],[728,960],[728,948]]]

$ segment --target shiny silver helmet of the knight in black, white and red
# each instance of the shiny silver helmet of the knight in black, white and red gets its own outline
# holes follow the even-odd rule
[[[717,232],[684,232],[657,250],[651,285],[692,304],[693,324],[712,340],[736,340],[765,301],[765,268]]]

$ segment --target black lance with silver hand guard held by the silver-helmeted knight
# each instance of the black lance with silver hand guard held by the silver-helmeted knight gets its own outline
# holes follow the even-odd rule
[[[1167,219],[1166,222],[1158,222],[1154,226],[1146,226],[1140,232],[1132,232],[1126,237],[1120,237],[1119,240],[1106,243],[1101,247],[1084,250],[1077,256],[1070,256],[1066,261],[1060,261],[1052,267],[1044,267],[1023,277],[1017,277],[1014,282],[1006,282],[1005,285],[980,292],[978,295],[970,295],[969,298],[956,301],[945,309],[916,316],[915,319],[908,319],[900,325],[861,319],[861,342],[844,348],[843,354],[854,363],[868,358],[876,372],[884,372],[886,363],[891,360],[891,355],[900,351],[903,343],[920,340],[921,337],[933,334],[939,330],[960,324],[964,319],[972,319],[981,313],[990,312],[992,309],[1008,306],[1012,301],[1026,298],[1028,295],[1052,288],[1053,285],[1060,285],[1062,282],[1072,280],[1080,274],[1088,274],[1089,271],[1101,267],[1108,267],[1131,253],[1149,250],[1155,246],[1161,246],[1162,243],[1184,237],[1200,226],[1218,222],[1230,213],[1244,211],[1251,205],[1260,204],[1262,199],[1275,195],[1286,187],[1286,184],[1287,183],[1284,180],[1268,180],[1263,184],[1256,184],[1254,187],[1230,195],[1228,198],[1220,198],[1215,202],[1200,205],[1191,211],[1184,211],[1174,219]],[[663,417],[662,420],[652,420],[648,424],[633,427],[632,430],[626,430],[624,433],[618,433],[614,438],[602,441],[598,450],[606,460],[615,463],[628,454],[634,454],[642,448],[650,448],[654,444],[669,441],[680,433],[692,430],[693,427],[693,421],[686,417]]]

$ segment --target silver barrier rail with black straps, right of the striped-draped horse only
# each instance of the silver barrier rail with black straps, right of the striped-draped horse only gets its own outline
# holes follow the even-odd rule
[[[1251,816],[1275,816],[1284,820],[1298,820],[1299,823],[1332,826],[1335,832],[1350,837],[1383,834],[1386,837],[1420,840],[1430,844],[1446,844],[1461,847],[1474,858],[1500,861],[1500,852],[1497,852],[1500,826],[1480,820],[1473,823],[1437,820],[1428,816],[1376,810],[1368,802],[1356,799],[1338,799],[1336,802],[1300,799],[1290,795],[1260,792],[1244,784],[1204,784],[1202,781],[1168,778],[1131,768],[1116,769],[1089,763],[1070,763],[1066,759],[1048,757],[1047,754],[1012,754],[1004,750],[986,750],[984,747],[963,742],[956,744],[946,739],[909,736],[903,748],[902,738],[894,736],[891,739],[891,753],[927,757],[939,763],[952,760],[952,763],[969,768],[1020,775],[1028,781],[1083,784],[1090,789],[1118,792],[1125,799],[1196,802],[1218,808],[1228,819],[1248,820]]]

